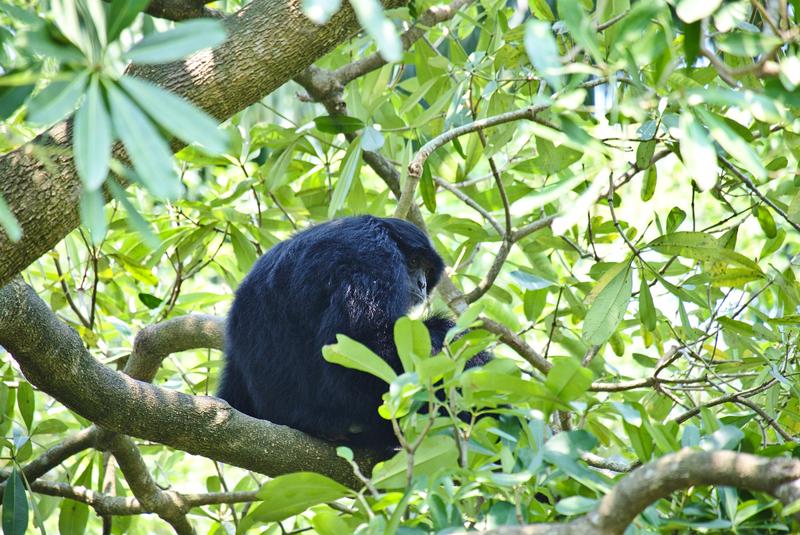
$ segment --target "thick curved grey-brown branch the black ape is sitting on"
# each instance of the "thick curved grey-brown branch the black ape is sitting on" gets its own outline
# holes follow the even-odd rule
[[[220,399],[158,388],[101,365],[21,279],[0,289],[0,345],[32,384],[107,430],[269,476],[311,470],[360,487],[326,442]],[[369,452],[358,458],[365,468],[377,460]]]

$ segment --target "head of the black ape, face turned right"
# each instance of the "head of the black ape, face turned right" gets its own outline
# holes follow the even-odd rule
[[[403,262],[408,273],[411,306],[425,302],[438,284],[444,271],[444,261],[434,250],[430,239],[416,226],[402,219],[380,220],[392,240],[403,253]]]

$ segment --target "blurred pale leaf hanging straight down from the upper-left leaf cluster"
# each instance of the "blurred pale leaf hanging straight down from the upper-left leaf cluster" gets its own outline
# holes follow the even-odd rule
[[[72,148],[75,167],[83,187],[94,191],[108,176],[111,159],[111,118],[106,110],[97,78],[92,78],[86,99],[75,115]]]

